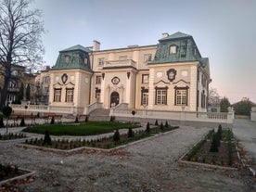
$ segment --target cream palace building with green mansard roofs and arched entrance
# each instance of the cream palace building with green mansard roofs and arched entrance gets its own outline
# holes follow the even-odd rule
[[[100,50],[97,41],[92,47],[74,45],[59,51],[46,73],[53,109],[83,114],[99,103],[103,109],[207,111],[209,59],[183,32],[163,33],[157,45],[108,50]]]

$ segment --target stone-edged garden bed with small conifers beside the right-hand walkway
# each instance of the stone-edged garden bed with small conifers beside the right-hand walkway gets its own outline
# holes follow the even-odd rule
[[[219,131],[218,131],[219,132]],[[238,168],[241,166],[237,156],[237,140],[232,130],[222,130],[217,142],[217,149],[214,150],[214,136],[218,134],[211,130],[197,145],[189,150],[181,160],[187,160],[210,165]],[[213,147],[212,147],[213,146]],[[213,149],[212,149],[213,148]]]

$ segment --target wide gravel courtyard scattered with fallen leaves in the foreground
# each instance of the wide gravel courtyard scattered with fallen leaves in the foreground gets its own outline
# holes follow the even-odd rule
[[[3,142],[0,162],[36,171],[36,178],[20,185],[19,191],[255,191],[249,173],[178,161],[208,131],[183,126],[111,153],[83,150],[62,155]]]

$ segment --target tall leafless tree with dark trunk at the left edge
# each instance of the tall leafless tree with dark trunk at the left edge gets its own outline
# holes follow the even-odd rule
[[[36,70],[42,66],[42,12],[31,10],[31,0],[0,0],[0,75],[4,76],[0,108],[5,104],[12,65]]]

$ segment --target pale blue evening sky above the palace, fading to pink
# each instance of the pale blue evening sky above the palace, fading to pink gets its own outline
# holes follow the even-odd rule
[[[256,0],[34,0],[44,13],[45,65],[72,45],[155,45],[162,32],[191,34],[210,59],[211,87],[231,103],[256,102]]]

